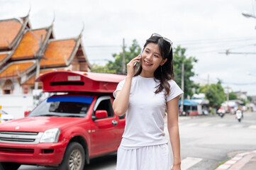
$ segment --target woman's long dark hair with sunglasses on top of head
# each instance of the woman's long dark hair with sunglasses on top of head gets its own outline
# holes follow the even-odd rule
[[[170,91],[170,86],[168,81],[171,79],[174,79],[172,49],[169,50],[171,44],[166,40],[164,40],[164,38],[152,36],[145,42],[143,50],[149,43],[157,44],[159,47],[162,59],[163,60],[167,59],[167,62],[165,62],[165,64],[163,64],[162,66],[160,65],[154,72],[154,78],[160,81],[160,84],[156,86],[157,90],[155,91],[155,94],[158,94],[163,89],[165,89],[166,91],[165,95],[168,95]],[[143,67],[140,64],[140,67],[138,68],[134,76],[138,76],[142,72],[142,70],[143,70]]]

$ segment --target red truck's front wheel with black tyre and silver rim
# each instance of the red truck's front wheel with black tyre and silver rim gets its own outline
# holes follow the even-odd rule
[[[85,155],[84,148],[77,142],[67,145],[66,152],[59,170],[82,170],[84,169]]]

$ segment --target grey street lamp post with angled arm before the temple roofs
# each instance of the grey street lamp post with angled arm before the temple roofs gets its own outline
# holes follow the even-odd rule
[[[38,50],[38,55],[35,54],[35,59],[36,59],[36,72],[35,72],[35,79],[37,79],[39,77],[39,72],[40,72],[40,60],[42,58],[42,46],[43,46],[43,35],[41,34],[41,38],[38,37],[38,35],[35,35],[35,33],[33,33],[33,30],[31,30],[30,28],[28,28],[22,21],[20,18],[15,18],[16,21],[18,21],[18,23],[21,23],[23,26],[25,26],[26,30],[30,31],[30,33],[32,33],[32,35],[35,36],[35,38],[37,38],[39,40],[39,50]],[[38,82],[35,81],[35,88],[34,89],[38,89]]]

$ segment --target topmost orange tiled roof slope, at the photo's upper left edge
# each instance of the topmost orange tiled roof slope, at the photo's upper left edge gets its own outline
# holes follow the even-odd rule
[[[9,48],[9,44],[16,38],[21,27],[21,23],[18,23],[14,19],[0,21],[0,48]]]

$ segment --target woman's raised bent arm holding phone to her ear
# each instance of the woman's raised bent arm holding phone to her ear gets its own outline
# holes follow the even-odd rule
[[[126,113],[129,103],[130,86],[132,84],[132,79],[135,73],[133,66],[135,62],[139,61],[140,57],[135,57],[127,64],[126,81],[123,84],[121,91],[116,91],[116,99],[113,101],[113,111],[116,113],[116,115],[123,115]]]

